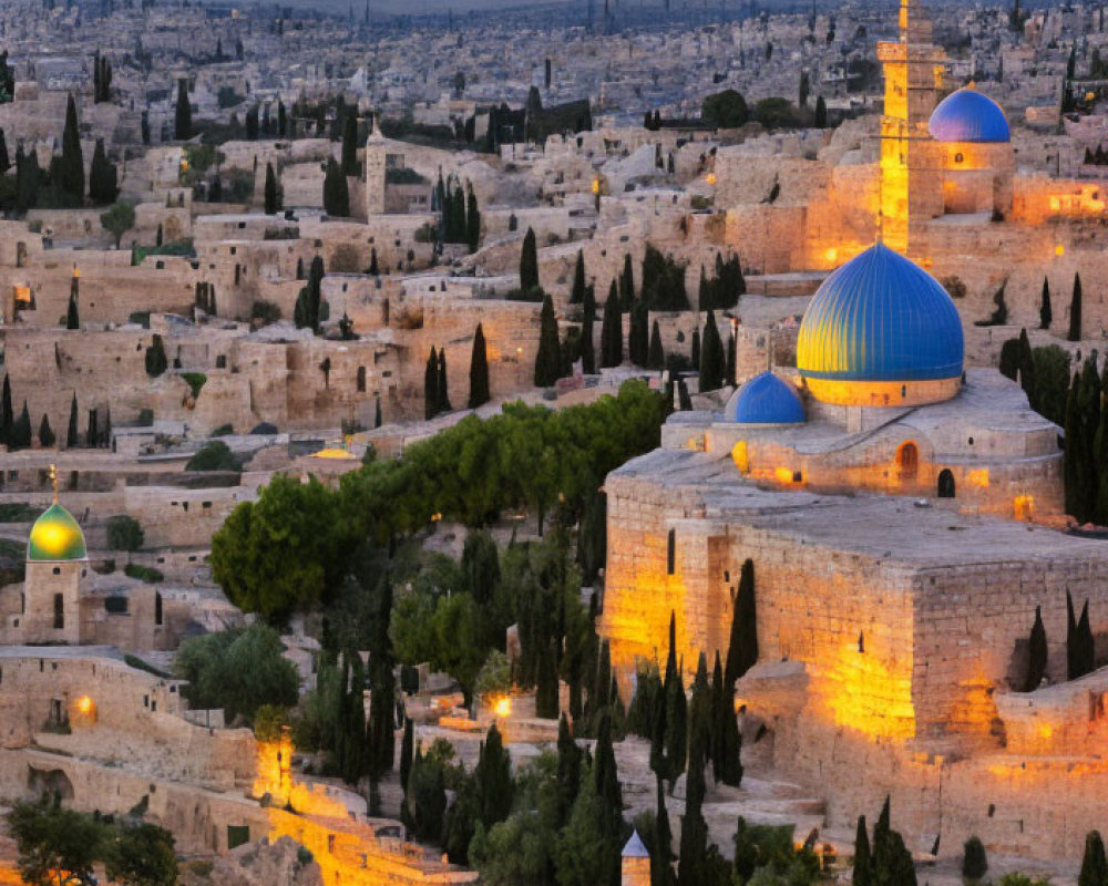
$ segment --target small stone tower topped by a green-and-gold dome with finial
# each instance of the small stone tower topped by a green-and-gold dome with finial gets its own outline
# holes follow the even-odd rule
[[[27,542],[23,612],[24,643],[81,642],[81,576],[88,568],[84,533],[58,502],[58,471],[50,466],[54,501],[31,527]]]

